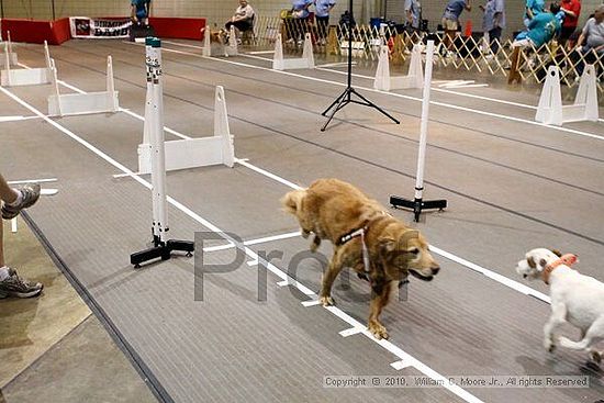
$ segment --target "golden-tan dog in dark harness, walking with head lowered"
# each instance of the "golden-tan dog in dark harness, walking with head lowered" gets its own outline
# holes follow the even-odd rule
[[[332,284],[343,268],[356,270],[371,283],[368,328],[378,339],[388,338],[379,316],[393,282],[405,281],[410,272],[429,281],[440,269],[424,237],[385,213],[377,201],[337,179],[318,179],[305,190],[287,193],[281,202],[298,217],[302,236],[314,233],[311,250],[318,248],[321,239],[334,244],[334,256],[323,276],[321,303],[334,304]]]

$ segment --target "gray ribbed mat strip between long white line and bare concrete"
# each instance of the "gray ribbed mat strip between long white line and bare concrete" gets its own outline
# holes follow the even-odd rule
[[[48,136],[40,143],[55,141]],[[75,144],[64,147],[72,156],[88,154]],[[41,153],[36,164],[74,164],[69,168],[75,171],[76,159],[58,161]],[[61,176],[66,190],[36,205],[31,215],[176,401],[395,401],[401,393],[414,401],[456,401],[439,389],[323,389],[328,374],[392,374],[388,363],[393,358],[368,340],[343,344],[337,332],[346,326],[326,312],[304,309],[286,289],[268,287],[267,303],[258,304],[256,273],[246,265],[208,276],[203,302],[193,298],[192,259],[133,270],[130,253],[149,239],[148,192],[132,180],[111,179],[111,172],[107,164],[90,159],[79,170],[86,180]],[[170,219],[175,237],[203,230],[174,210]],[[228,258],[225,253],[208,260]],[[316,339],[301,336],[300,327]]]

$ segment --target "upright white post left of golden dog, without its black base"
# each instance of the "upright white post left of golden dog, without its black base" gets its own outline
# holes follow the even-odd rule
[[[147,97],[150,102],[149,135],[152,142],[152,194],[153,194],[153,234],[156,242],[165,243],[169,231],[166,214],[166,154],[164,150],[164,100],[161,86],[161,41],[147,37]]]

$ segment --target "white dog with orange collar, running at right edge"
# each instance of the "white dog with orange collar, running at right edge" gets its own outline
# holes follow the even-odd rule
[[[564,323],[581,329],[581,340],[560,337],[560,346],[586,350],[590,358],[600,363],[602,354],[593,346],[604,339],[604,283],[583,276],[570,268],[577,256],[564,255],[545,248],[533,249],[518,261],[516,271],[525,279],[541,278],[550,284],[551,316],[544,327],[544,346],[548,351],[556,348],[553,329]]]

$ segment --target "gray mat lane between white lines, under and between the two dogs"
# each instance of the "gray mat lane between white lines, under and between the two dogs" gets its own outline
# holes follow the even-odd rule
[[[302,283],[318,290],[322,265],[317,259],[331,256],[328,245],[320,249],[323,257],[307,253],[307,242],[301,238],[267,243],[253,247],[283,257],[275,265],[287,268]],[[304,260],[300,260],[304,259]],[[501,284],[459,265],[443,261],[443,270],[429,283],[411,279],[405,291],[394,295],[382,320],[391,342],[447,376],[589,376],[589,390],[472,390],[490,402],[569,399],[596,400],[604,393],[601,374],[585,367],[581,352],[558,350],[550,355],[543,347],[543,321],[549,305],[502,289]],[[338,307],[366,323],[369,310],[369,286],[356,275],[344,272],[333,288]],[[543,318],[543,320],[538,320]],[[577,337],[564,326],[560,332]],[[357,336],[355,336],[357,337]]]

